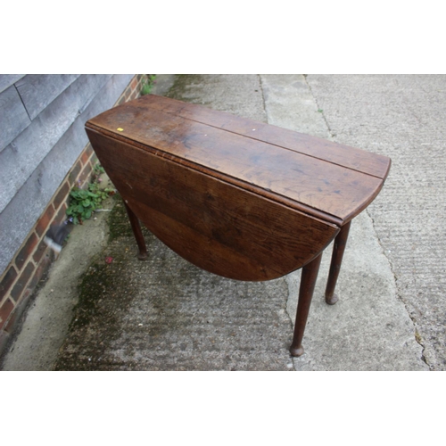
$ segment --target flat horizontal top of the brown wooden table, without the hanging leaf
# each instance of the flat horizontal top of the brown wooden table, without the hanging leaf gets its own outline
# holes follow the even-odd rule
[[[375,153],[157,95],[88,125],[338,225],[373,201],[391,164]]]

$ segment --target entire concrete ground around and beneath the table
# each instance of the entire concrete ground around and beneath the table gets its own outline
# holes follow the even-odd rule
[[[3,370],[446,369],[446,76],[158,75],[153,93],[392,158],[383,191],[353,220],[340,301],[323,298],[330,246],[306,352],[293,359],[300,271],[227,280],[148,231],[149,260],[139,261],[111,198],[74,227]]]

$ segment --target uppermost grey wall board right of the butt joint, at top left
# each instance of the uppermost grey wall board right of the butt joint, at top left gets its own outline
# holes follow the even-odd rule
[[[34,120],[40,111],[61,95],[79,74],[28,74],[15,83],[29,118]]]

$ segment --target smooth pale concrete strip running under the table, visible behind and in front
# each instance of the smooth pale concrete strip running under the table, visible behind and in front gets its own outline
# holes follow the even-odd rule
[[[330,138],[323,111],[307,80],[298,75],[262,75],[268,123]],[[360,146],[359,146],[360,147]],[[385,185],[384,185],[385,188]],[[379,200],[379,196],[376,200]],[[323,298],[332,246],[324,253],[305,332],[306,354],[298,370],[425,370],[421,346],[392,268],[367,211],[353,220],[334,306]],[[288,311],[294,317],[300,272],[286,277]]]

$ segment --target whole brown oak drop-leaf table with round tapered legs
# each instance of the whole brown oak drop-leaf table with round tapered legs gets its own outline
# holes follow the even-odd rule
[[[326,302],[351,219],[384,185],[391,160],[285,128],[157,95],[86,124],[146,257],[142,221],[186,260],[219,276],[260,281],[302,268],[293,356],[321,255],[335,239]]]

